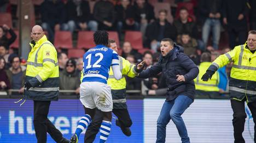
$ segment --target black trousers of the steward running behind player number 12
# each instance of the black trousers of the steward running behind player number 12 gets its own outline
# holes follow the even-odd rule
[[[113,109],[114,113],[118,117],[118,121],[121,127],[129,128],[132,125],[131,117],[127,109]],[[101,110],[96,110],[94,118],[92,119],[88,129],[85,132],[84,142],[91,143],[95,140],[95,136],[101,127],[101,122],[103,120],[103,115]]]

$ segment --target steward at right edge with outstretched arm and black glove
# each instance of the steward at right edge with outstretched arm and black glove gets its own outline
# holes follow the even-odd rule
[[[254,122],[254,142],[256,142],[256,30],[248,32],[247,42],[236,46],[232,51],[220,55],[203,74],[207,81],[220,67],[233,62],[229,81],[229,96],[233,110],[235,142],[243,143],[245,128],[245,102],[251,110]]]

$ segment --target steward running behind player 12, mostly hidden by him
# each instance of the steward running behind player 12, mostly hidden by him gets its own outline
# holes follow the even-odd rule
[[[108,40],[108,47],[113,49],[115,52],[118,52],[117,43],[115,40]],[[127,110],[126,105],[126,80],[125,76],[135,77],[140,70],[136,69],[135,65],[132,65],[129,61],[119,56],[119,65],[120,71],[123,74],[123,77],[120,80],[114,78],[113,71],[110,67],[109,77],[108,77],[108,85],[111,87],[111,94],[113,100],[113,110],[112,112],[118,117],[115,120],[115,124],[119,126],[122,132],[126,136],[131,135],[130,127],[132,125],[132,120]],[[141,68],[142,70],[142,68]],[[103,120],[103,116],[100,113],[100,110],[96,110],[96,114],[94,119],[92,119],[88,129],[85,132],[84,142],[91,143],[94,141],[98,130],[101,127],[101,122]]]

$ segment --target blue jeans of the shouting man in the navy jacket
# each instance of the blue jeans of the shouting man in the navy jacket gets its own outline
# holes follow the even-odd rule
[[[170,122],[171,119],[178,129],[182,142],[190,143],[187,128],[181,115],[192,102],[193,100],[191,98],[184,95],[179,95],[175,100],[170,102],[165,101],[164,105],[162,105],[161,113],[158,117],[156,143],[165,142],[166,125],[168,122]]]

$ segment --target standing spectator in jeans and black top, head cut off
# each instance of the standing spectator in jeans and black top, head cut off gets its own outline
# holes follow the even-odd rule
[[[212,45],[214,49],[219,48],[219,39],[220,39],[220,18],[223,8],[223,0],[217,1],[208,1],[200,0],[199,10],[200,16],[203,20],[202,27],[202,40],[205,45],[207,45],[208,38],[212,32]]]

